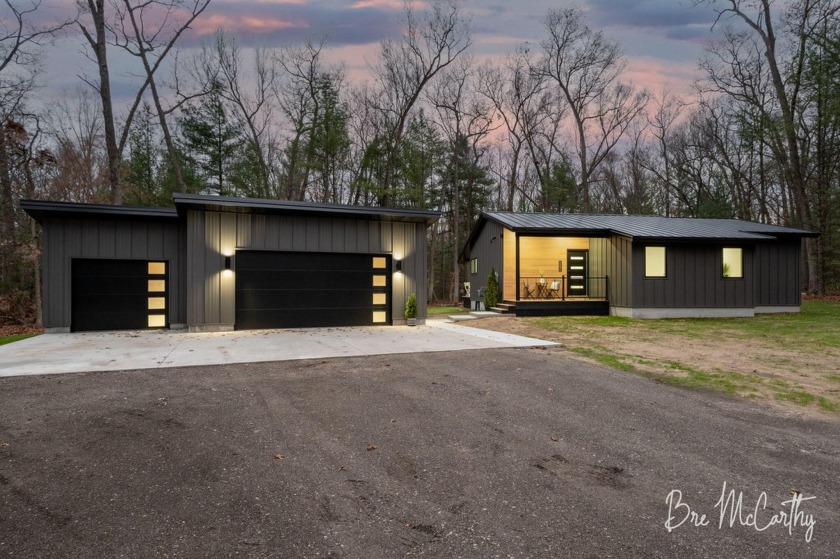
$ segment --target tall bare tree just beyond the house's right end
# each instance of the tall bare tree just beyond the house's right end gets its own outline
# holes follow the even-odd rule
[[[759,112],[769,146],[790,189],[796,221],[811,229],[815,222],[809,197],[807,153],[800,117],[808,102],[803,74],[809,45],[840,6],[830,0],[797,0],[777,8],[771,0],[699,0],[723,18],[734,18],[746,31],[726,30],[704,62],[714,91],[729,95]],[[782,11],[785,10],[786,11]],[[780,35],[781,33],[781,35]],[[808,290],[822,292],[819,240],[806,239]]]

